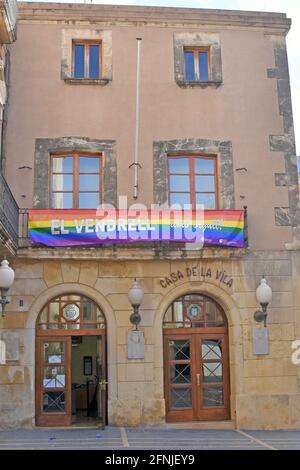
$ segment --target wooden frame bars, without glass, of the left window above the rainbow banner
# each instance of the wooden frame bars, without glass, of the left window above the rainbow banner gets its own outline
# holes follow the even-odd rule
[[[54,158],[59,157],[72,157],[73,158],[73,172],[72,173],[58,173],[53,172]],[[99,160],[99,173],[95,172],[79,172],[79,158],[80,157],[92,157],[98,158]],[[49,182],[49,206],[51,209],[57,209],[53,207],[52,195],[54,193],[68,193],[73,195],[73,207],[66,210],[80,209],[79,207],[79,194],[80,193],[97,193],[97,191],[80,191],[79,190],[79,175],[99,175],[99,204],[103,201],[103,153],[92,153],[92,152],[53,152],[50,155],[50,182]],[[53,175],[73,175],[73,190],[72,191],[58,191],[53,190]],[[83,209],[83,208],[82,208]],[[86,209],[95,209],[94,207]]]

